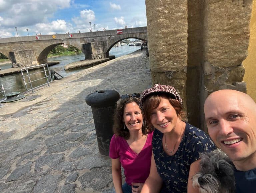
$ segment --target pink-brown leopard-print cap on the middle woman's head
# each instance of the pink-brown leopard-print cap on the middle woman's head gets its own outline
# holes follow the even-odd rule
[[[141,102],[139,103],[139,106],[142,108],[142,103],[145,100],[146,96],[156,92],[165,92],[167,94],[170,94],[174,99],[178,100],[180,104],[182,104],[182,99],[174,87],[169,85],[155,84],[152,88],[146,89],[141,93]]]

